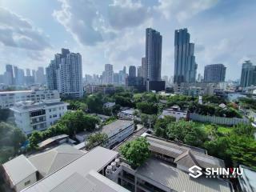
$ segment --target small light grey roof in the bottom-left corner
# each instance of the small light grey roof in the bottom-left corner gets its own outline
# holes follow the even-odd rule
[[[11,159],[2,165],[9,175],[14,186],[19,182],[22,182],[24,178],[34,174],[38,170],[34,165],[23,155],[19,155],[17,158]]]

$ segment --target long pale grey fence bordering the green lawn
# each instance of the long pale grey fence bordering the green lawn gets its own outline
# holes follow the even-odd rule
[[[189,117],[190,119],[198,122],[211,122],[214,124],[226,125],[226,126],[233,126],[238,124],[239,122],[246,123],[246,124],[250,123],[247,118],[222,118],[222,117],[208,116],[208,115],[195,114],[195,113],[189,114]]]

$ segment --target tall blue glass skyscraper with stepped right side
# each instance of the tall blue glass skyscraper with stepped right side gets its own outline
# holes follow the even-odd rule
[[[174,83],[195,82],[196,71],[194,43],[190,42],[190,34],[187,29],[175,30]]]

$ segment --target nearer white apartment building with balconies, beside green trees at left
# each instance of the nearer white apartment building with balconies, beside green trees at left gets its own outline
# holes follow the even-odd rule
[[[16,102],[10,110],[14,111],[16,125],[28,135],[54,125],[66,113],[66,106],[68,104],[58,98],[44,102]]]

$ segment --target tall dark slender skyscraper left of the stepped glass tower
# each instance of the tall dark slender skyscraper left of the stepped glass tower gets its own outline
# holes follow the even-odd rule
[[[149,81],[161,81],[162,35],[151,28],[146,29],[146,68]]]

